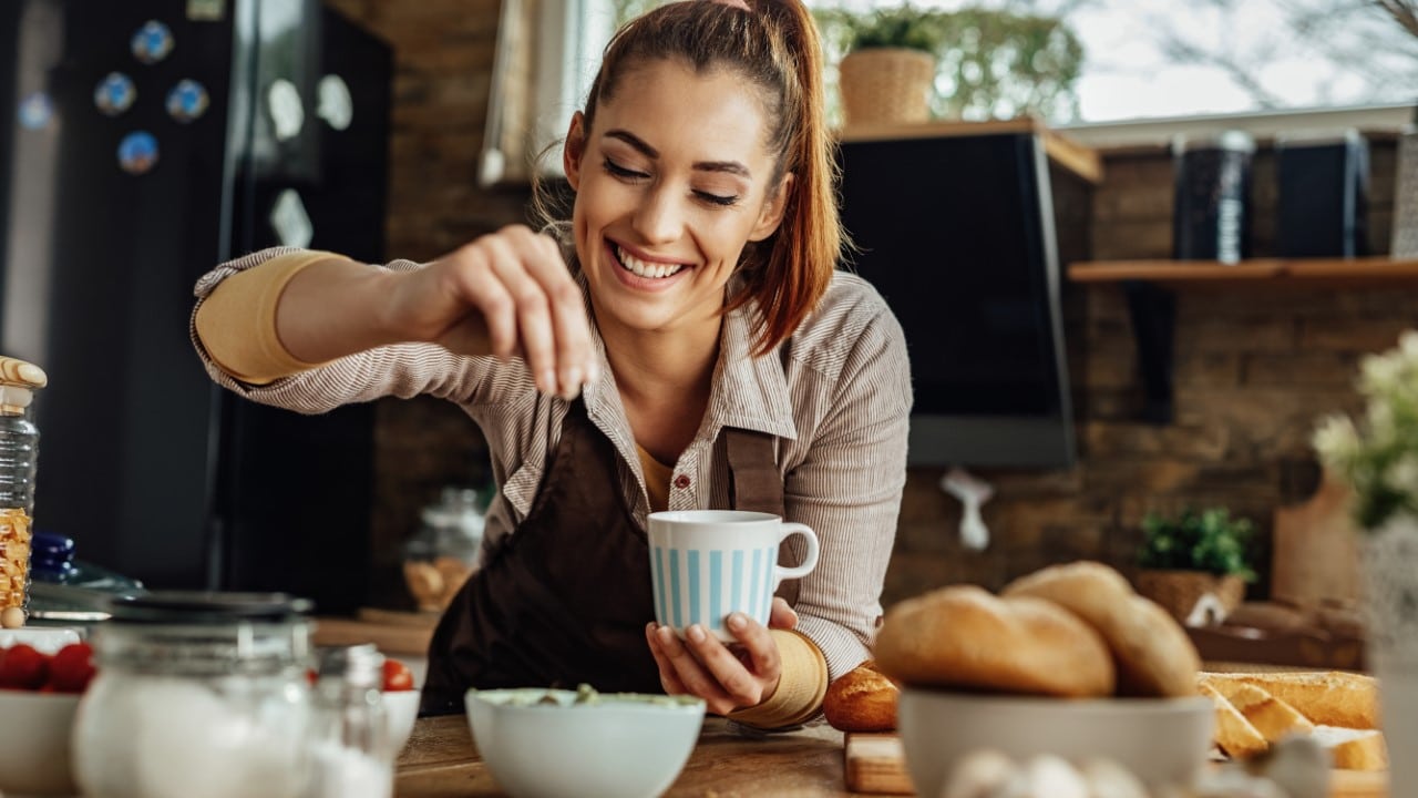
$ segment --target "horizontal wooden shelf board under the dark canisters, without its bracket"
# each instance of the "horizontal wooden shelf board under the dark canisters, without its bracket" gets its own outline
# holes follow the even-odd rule
[[[1236,264],[1180,260],[1116,260],[1069,264],[1075,283],[1146,281],[1183,288],[1245,280],[1316,281],[1324,284],[1375,284],[1418,278],[1418,260],[1356,258],[1255,258]]]

